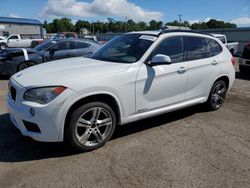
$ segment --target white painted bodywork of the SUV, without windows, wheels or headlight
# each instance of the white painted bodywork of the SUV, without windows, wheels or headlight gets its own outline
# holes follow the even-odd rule
[[[162,39],[183,35],[212,38],[222,46],[223,51],[215,57],[197,61],[155,67],[145,64]],[[212,65],[214,60],[217,61],[216,65]],[[181,74],[178,73],[180,68],[185,68]],[[77,57],[21,71],[10,79],[10,84],[17,90],[17,100],[13,103],[8,95],[7,104],[12,122],[22,134],[39,141],[63,141],[68,111],[85,97],[96,94],[112,96],[119,108],[120,124],[126,124],[203,103],[217,78],[227,76],[230,89],[234,74],[230,52],[218,39],[196,33],[167,33],[160,35],[141,59],[132,64]],[[45,105],[23,99],[27,89],[45,86],[65,86],[68,89]],[[36,111],[34,117],[30,115],[31,108]],[[22,120],[37,123],[42,134],[25,130]]]

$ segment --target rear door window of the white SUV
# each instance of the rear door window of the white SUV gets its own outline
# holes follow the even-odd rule
[[[207,43],[205,38],[201,37],[187,37],[189,50],[188,50],[188,60],[198,60],[207,57],[211,57],[211,47]]]

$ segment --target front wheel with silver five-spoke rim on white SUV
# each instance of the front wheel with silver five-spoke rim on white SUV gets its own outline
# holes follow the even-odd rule
[[[65,141],[80,152],[94,150],[105,145],[115,127],[116,116],[110,106],[102,102],[87,103],[71,114],[65,127]]]

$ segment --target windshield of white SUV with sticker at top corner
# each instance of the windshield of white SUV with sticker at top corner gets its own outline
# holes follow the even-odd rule
[[[91,58],[118,63],[134,63],[143,56],[156,39],[157,37],[152,35],[121,35],[108,42]]]

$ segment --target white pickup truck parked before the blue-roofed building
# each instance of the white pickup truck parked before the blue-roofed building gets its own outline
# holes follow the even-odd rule
[[[29,39],[22,35],[15,34],[0,40],[0,50],[5,48],[31,48],[34,47],[34,44],[37,45],[42,42],[43,39]]]

